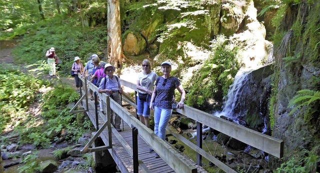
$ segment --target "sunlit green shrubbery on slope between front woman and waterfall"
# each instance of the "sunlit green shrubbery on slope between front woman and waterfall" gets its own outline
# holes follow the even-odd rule
[[[194,72],[190,80],[192,83],[184,86],[188,105],[201,107],[209,99],[214,99],[216,93],[227,94],[240,65],[236,57],[237,49],[228,48],[226,43],[224,36],[218,36],[212,42],[214,53],[203,63],[201,69]]]

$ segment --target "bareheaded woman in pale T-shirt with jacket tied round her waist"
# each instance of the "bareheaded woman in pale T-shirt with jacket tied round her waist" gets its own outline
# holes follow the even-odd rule
[[[153,84],[158,75],[151,71],[151,63],[149,60],[142,61],[142,72],[138,74],[136,80],[137,94],[137,115],[140,122],[146,127],[149,127],[150,117],[150,99],[153,91]]]

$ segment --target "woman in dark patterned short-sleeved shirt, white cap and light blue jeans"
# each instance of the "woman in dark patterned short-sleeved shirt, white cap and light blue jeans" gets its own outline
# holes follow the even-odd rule
[[[164,61],[161,63],[162,76],[155,81],[153,93],[150,101],[150,109],[154,110],[154,133],[165,140],[165,127],[168,124],[172,113],[172,104],[174,101],[174,90],[177,89],[181,94],[181,100],[176,108],[183,108],[185,99],[185,91],[178,78],[171,76],[171,63]],[[154,101],[154,102],[153,102]],[[155,158],[159,158],[155,154]]]

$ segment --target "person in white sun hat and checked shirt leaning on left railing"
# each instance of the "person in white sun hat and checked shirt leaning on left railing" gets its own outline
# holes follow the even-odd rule
[[[104,78],[101,79],[98,92],[105,93],[110,96],[116,103],[121,105],[121,98],[119,93],[122,92],[121,84],[119,77],[113,75],[115,67],[111,64],[107,63],[104,66],[103,72],[106,74]],[[115,114],[114,123],[113,123],[113,115],[111,114],[111,124],[114,126],[116,131],[121,132],[120,125],[121,125],[121,118]]]

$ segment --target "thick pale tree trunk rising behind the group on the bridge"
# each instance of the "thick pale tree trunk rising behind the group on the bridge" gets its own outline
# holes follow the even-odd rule
[[[108,0],[107,21],[108,62],[120,68],[125,57],[122,53],[119,0]]]

